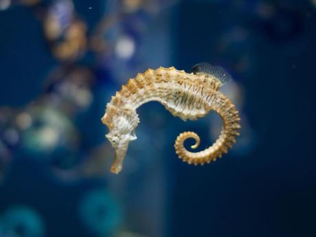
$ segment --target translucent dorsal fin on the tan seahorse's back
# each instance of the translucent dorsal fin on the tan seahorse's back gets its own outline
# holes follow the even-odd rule
[[[220,66],[214,66],[210,63],[198,63],[192,67],[192,71],[194,74],[203,73],[210,75],[221,82],[221,86],[227,84],[230,80],[232,80],[232,76]]]

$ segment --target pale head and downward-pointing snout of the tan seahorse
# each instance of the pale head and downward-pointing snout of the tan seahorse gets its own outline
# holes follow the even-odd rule
[[[109,128],[109,133],[105,136],[115,149],[115,159],[111,166],[111,172],[118,174],[123,168],[129,142],[137,139],[135,128],[139,123],[139,119],[133,109],[128,107],[117,108],[108,104],[106,113],[101,120]]]

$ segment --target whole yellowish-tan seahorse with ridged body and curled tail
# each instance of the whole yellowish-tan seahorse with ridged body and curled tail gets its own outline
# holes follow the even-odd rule
[[[177,137],[174,148],[183,161],[203,165],[222,157],[228,148],[232,148],[236,136],[239,135],[240,117],[236,106],[220,91],[223,80],[230,76],[221,67],[199,64],[193,69],[192,73],[174,67],[148,69],[129,79],[128,83],[112,96],[101,119],[109,128],[106,137],[115,148],[111,172],[118,174],[122,170],[128,144],[137,139],[135,128],[139,117],[136,109],[150,101],[160,102],[172,115],[184,121],[197,120],[211,110],[221,116],[221,134],[216,142],[205,150],[192,153],[184,147],[183,143],[188,138],[195,139],[191,148],[199,146],[200,138],[194,132],[184,132]]]

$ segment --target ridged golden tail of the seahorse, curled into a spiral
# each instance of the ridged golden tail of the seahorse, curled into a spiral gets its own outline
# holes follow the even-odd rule
[[[194,165],[204,163],[210,163],[211,161],[216,161],[217,157],[222,157],[224,153],[227,153],[229,148],[236,142],[236,136],[239,135],[238,130],[240,128],[240,117],[238,116],[238,111],[231,100],[222,98],[223,100],[219,102],[213,109],[221,116],[223,120],[223,128],[221,135],[212,146],[202,150],[198,153],[192,153],[185,149],[184,142],[185,139],[193,138],[196,140],[196,144],[192,148],[196,148],[199,145],[200,139],[196,133],[184,132],[181,133],[174,144],[176,153],[179,158],[185,162],[193,163]]]

